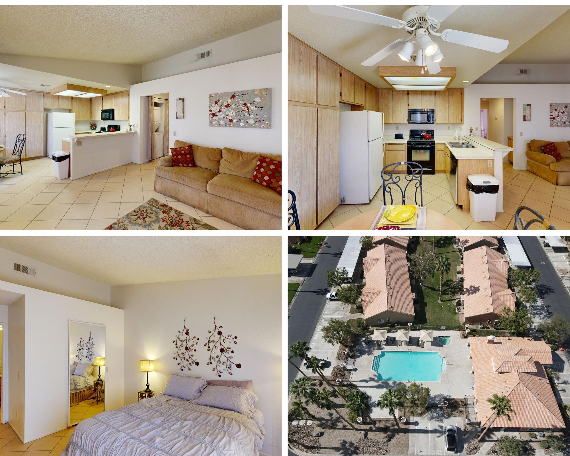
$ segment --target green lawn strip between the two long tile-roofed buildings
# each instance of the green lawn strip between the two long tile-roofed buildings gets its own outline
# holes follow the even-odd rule
[[[433,249],[434,237],[422,237],[419,244],[424,244]],[[419,247],[419,245],[418,245]],[[446,255],[450,259],[450,268],[443,275],[443,291],[441,303],[439,299],[439,272],[427,276],[420,288],[416,280],[416,298],[420,301],[420,311],[414,317],[414,323],[427,324],[430,326],[457,326],[459,317],[455,311],[457,296],[457,266],[459,266],[459,254],[455,250],[450,237],[435,237],[435,254]]]

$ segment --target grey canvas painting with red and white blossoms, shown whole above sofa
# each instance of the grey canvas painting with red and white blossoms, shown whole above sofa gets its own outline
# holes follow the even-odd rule
[[[210,93],[210,127],[271,128],[271,88]]]

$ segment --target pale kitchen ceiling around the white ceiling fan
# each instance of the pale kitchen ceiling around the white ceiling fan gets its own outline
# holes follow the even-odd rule
[[[401,19],[404,11],[410,6],[351,5],[357,9],[397,19]],[[466,87],[468,84],[462,83],[462,80],[473,82],[567,10],[567,5],[459,7],[442,22],[440,30],[452,28],[508,39],[510,43],[506,50],[495,54],[447,43],[436,37],[435,42],[441,46],[445,56],[440,65],[457,67],[457,77],[451,87]],[[377,87],[388,87],[388,85],[378,76],[376,66],[364,67],[361,62],[396,39],[409,36],[401,29],[314,14],[306,6],[289,6],[288,28],[299,39]],[[405,63],[401,62],[394,52],[379,64],[402,66]]]

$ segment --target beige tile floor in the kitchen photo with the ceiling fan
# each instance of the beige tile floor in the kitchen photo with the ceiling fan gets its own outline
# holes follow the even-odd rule
[[[494,222],[475,222],[471,214],[453,202],[445,174],[438,173],[424,178],[424,206],[453,219],[462,229],[496,230],[512,229],[514,214],[519,206],[528,206],[543,214],[556,229],[570,229],[570,186],[556,186],[527,170],[516,170],[511,164],[503,164],[503,212],[496,213]],[[409,193],[409,192],[408,192]],[[410,194],[411,196],[411,194]],[[410,203],[414,203],[408,198]],[[368,204],[338,206],[317,230],[333,229],[341,223],[382,206],[382,189]],[[530,213],[522,214],[528,220]],[[534,216],[532,217],[534,218]],[[543,229],[533,225],[532,229]]]

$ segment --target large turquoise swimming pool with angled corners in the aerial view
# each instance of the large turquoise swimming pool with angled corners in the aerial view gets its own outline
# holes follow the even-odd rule
[[[378,381],[439,381],[445,358],[437,352],[386,352],[374,356]]]

